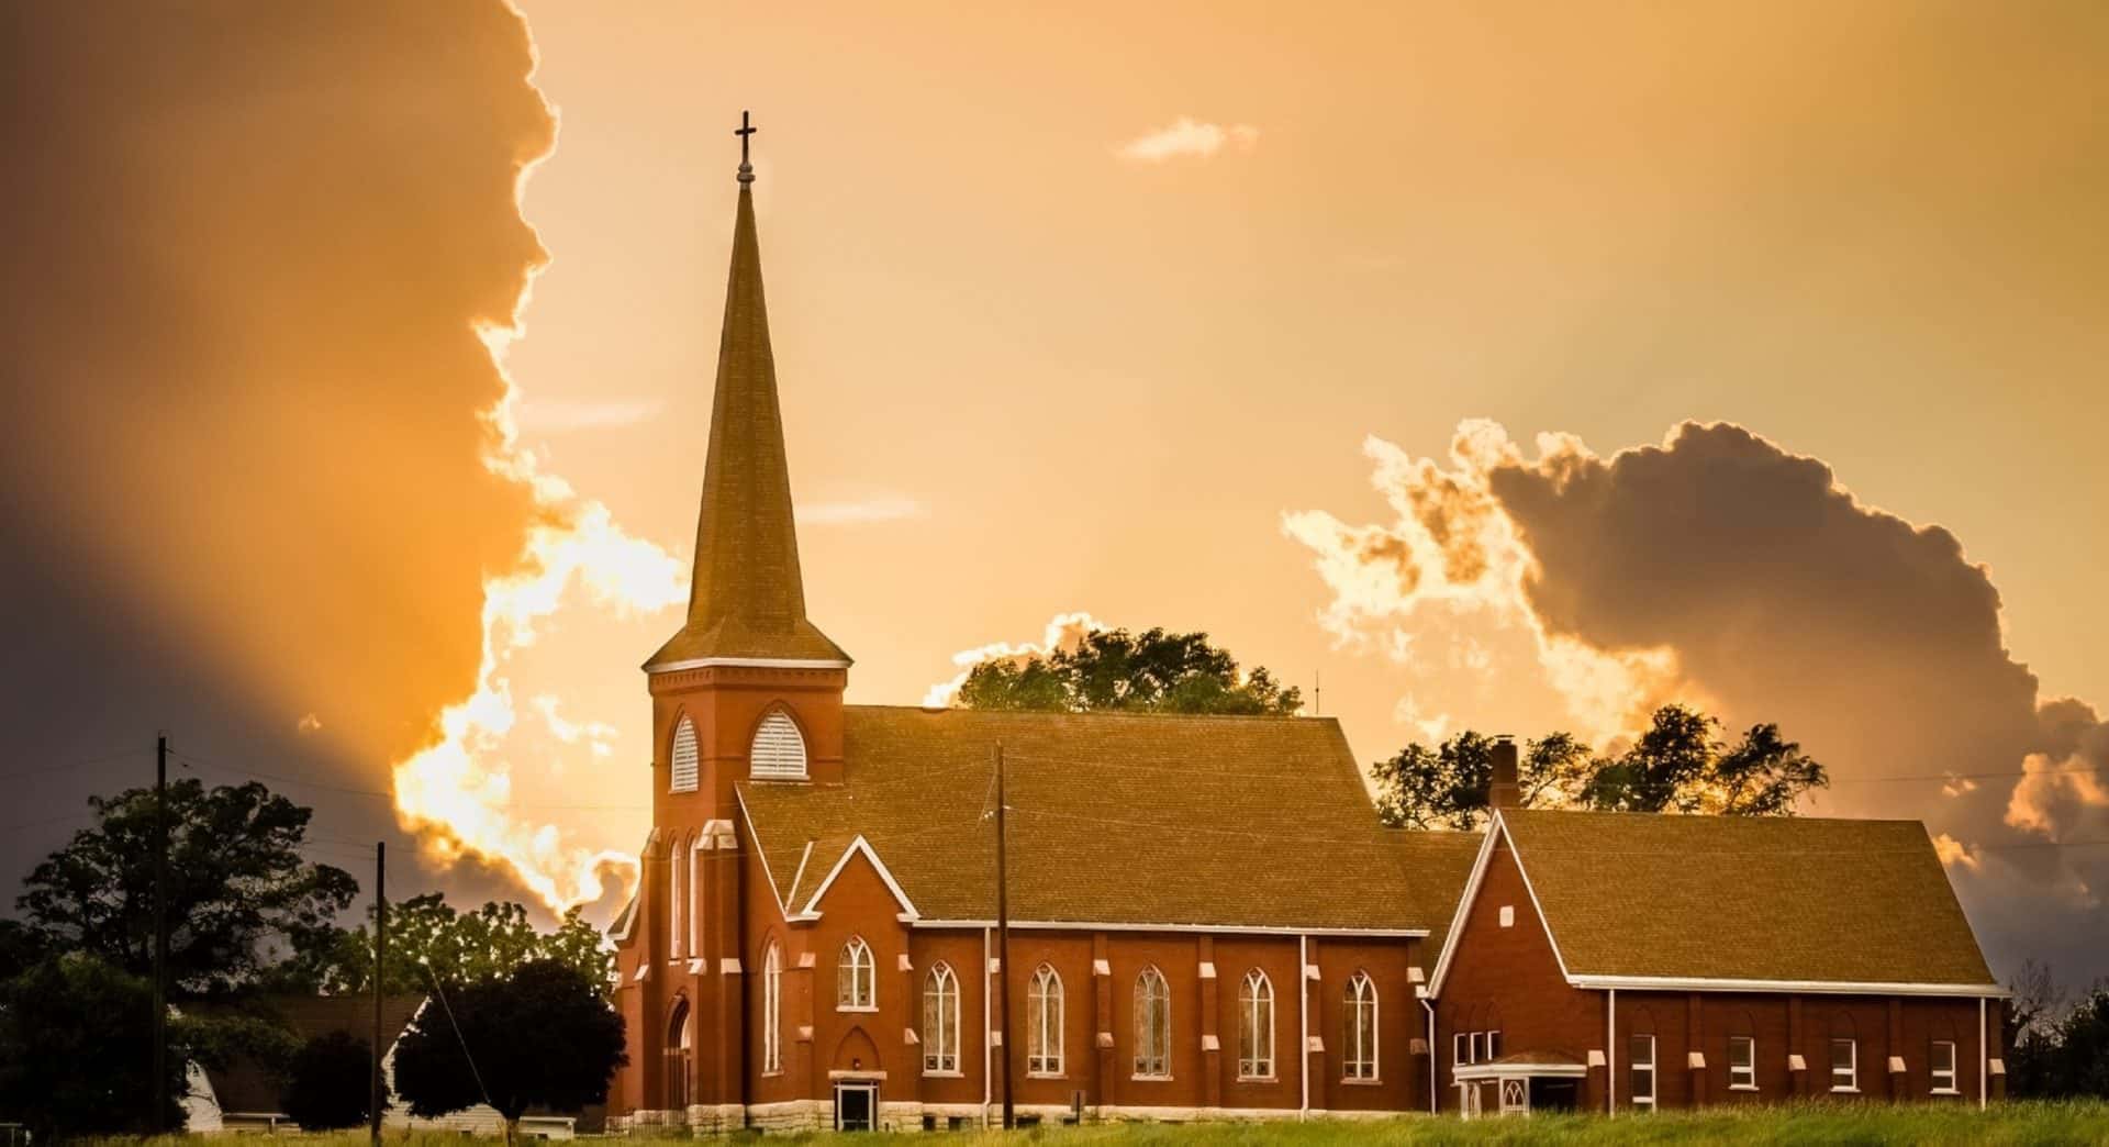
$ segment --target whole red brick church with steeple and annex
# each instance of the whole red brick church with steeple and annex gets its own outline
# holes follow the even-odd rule
[[[744,133],[738,183],[612,1130],[1991,1096],[2004,993],[1915,822],[1384,829],[1331,719],[846,704]]]

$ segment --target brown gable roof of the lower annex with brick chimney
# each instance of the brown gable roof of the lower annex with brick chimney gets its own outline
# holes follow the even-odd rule
[[[1506,841],[1578,987],[1997,991],[1917,820],[1502,810],[1491,833],[1466,900]]]

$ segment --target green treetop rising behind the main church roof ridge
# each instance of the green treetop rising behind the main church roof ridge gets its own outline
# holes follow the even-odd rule
[[[1263,668],[1238,673],[1206,633],[1124,628],[1084,635],[1076,649],[976,664],[960,685],[966,708],[1042,713],[1232,713],[1293,715],[1301,692]]]

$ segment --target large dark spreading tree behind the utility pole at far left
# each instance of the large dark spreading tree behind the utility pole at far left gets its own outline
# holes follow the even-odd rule
[[[74,833],[23,883],[17,907],[59,951],[131,974],[154,964],[154,791],[89,797],[97,824]],[[169,983],[177,993],[249,983],[280,945],[327,934],[359,881],[299,856],[310,810],[257,782],[169,784]]]

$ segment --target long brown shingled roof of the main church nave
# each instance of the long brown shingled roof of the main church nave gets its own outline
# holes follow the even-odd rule
[[[1476,835],[1384,829],[1333,719],[846,706],[844,784],[744,782],[787,913],[863,837],[924,921],[1436,932]],[[812,854],[806,845],[812,843]]]

